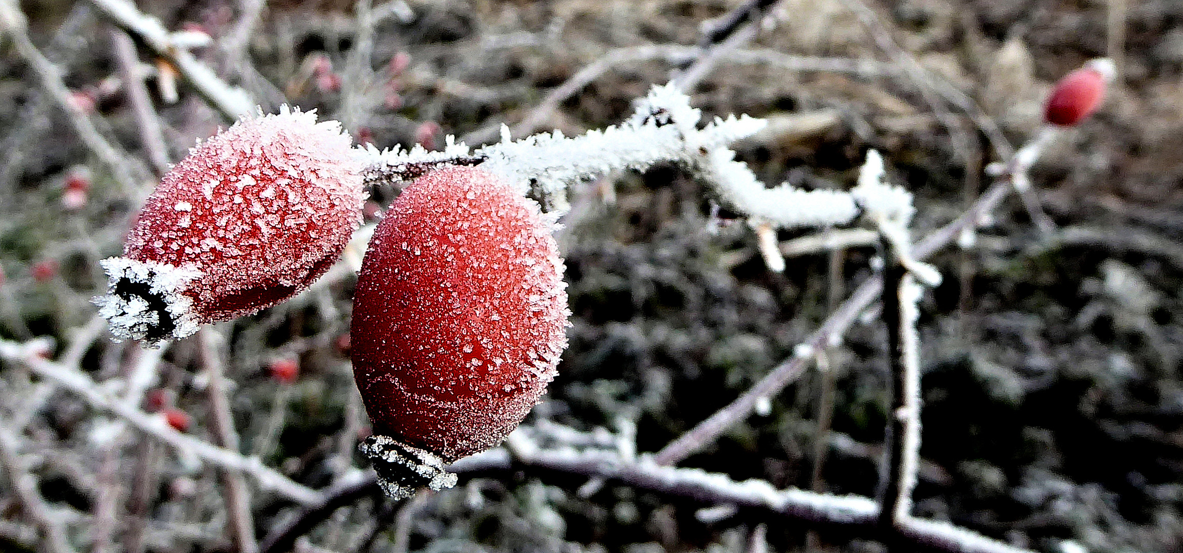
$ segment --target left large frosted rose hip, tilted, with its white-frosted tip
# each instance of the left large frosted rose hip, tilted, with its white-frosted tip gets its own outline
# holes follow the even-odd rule
[[[99,313],[116,338],[159,343],[252,314],[340,256],[366,193],[337,122],[289,111],[239,121],[164,175],[128,233]]]

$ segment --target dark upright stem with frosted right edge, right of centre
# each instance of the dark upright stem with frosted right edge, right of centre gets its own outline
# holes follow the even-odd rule
[[[887,328],[891,408],[887,410],[884,462],[880,464],[879,523],[893,527],[911,515],[912,489],[920,450],[919,337],[916,332],[914,278],[904,265],[906,252],[884,236],[883,321]]]

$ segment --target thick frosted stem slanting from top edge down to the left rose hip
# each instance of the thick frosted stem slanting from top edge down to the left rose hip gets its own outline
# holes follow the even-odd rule
[[[254,102],[243,89],[222,82],[188,50],[177,45],[173,40],[173,33],[169,33],[160,20],[144,15],[129,0],[90,0],[90,2],[116,25],[140,37],[227,121],[237,121],[254,112]]]

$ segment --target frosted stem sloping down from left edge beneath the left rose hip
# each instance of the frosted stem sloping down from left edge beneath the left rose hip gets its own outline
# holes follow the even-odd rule
[[[137,430],[176,450],[192,453],[221,468],[241,470],[251,475],[263,489],[276,492],[300,505],[312,505],[321,500],[321,493],[293,482],[279,471],[264,466],[256,457],[246,457],[238,451],[220,448],[181,434],[160,417],[141,411],[127,402],[112,397],[89,376],[76,367],[44,359],[37,354],[38,343],[18,344],[0,340],[0,358],[21,363],[32,372],[82,397],[91,408],[111,412],[123,418]]]

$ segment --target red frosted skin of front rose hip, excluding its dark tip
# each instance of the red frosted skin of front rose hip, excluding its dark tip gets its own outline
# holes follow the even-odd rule
[[[375,434],[452,462],[522,422],[567,347],[551,227],[478,168],[437,170],[402,191],[370,240],[350,327]]]

